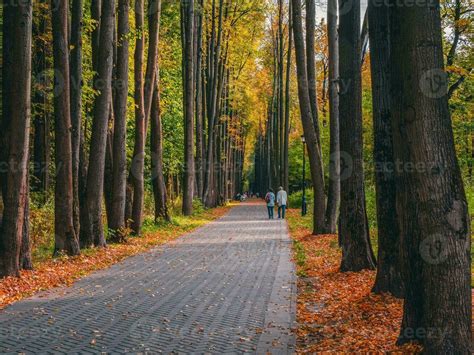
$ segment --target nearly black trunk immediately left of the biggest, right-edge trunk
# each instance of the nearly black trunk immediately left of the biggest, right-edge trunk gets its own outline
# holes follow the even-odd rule
[[[374,119],[375,187],[377,192],[378,258],[373,291],[403,297],[400,231],[396,213],[390,109],[389,13],[386,4],[369,1],[368,21]]]

